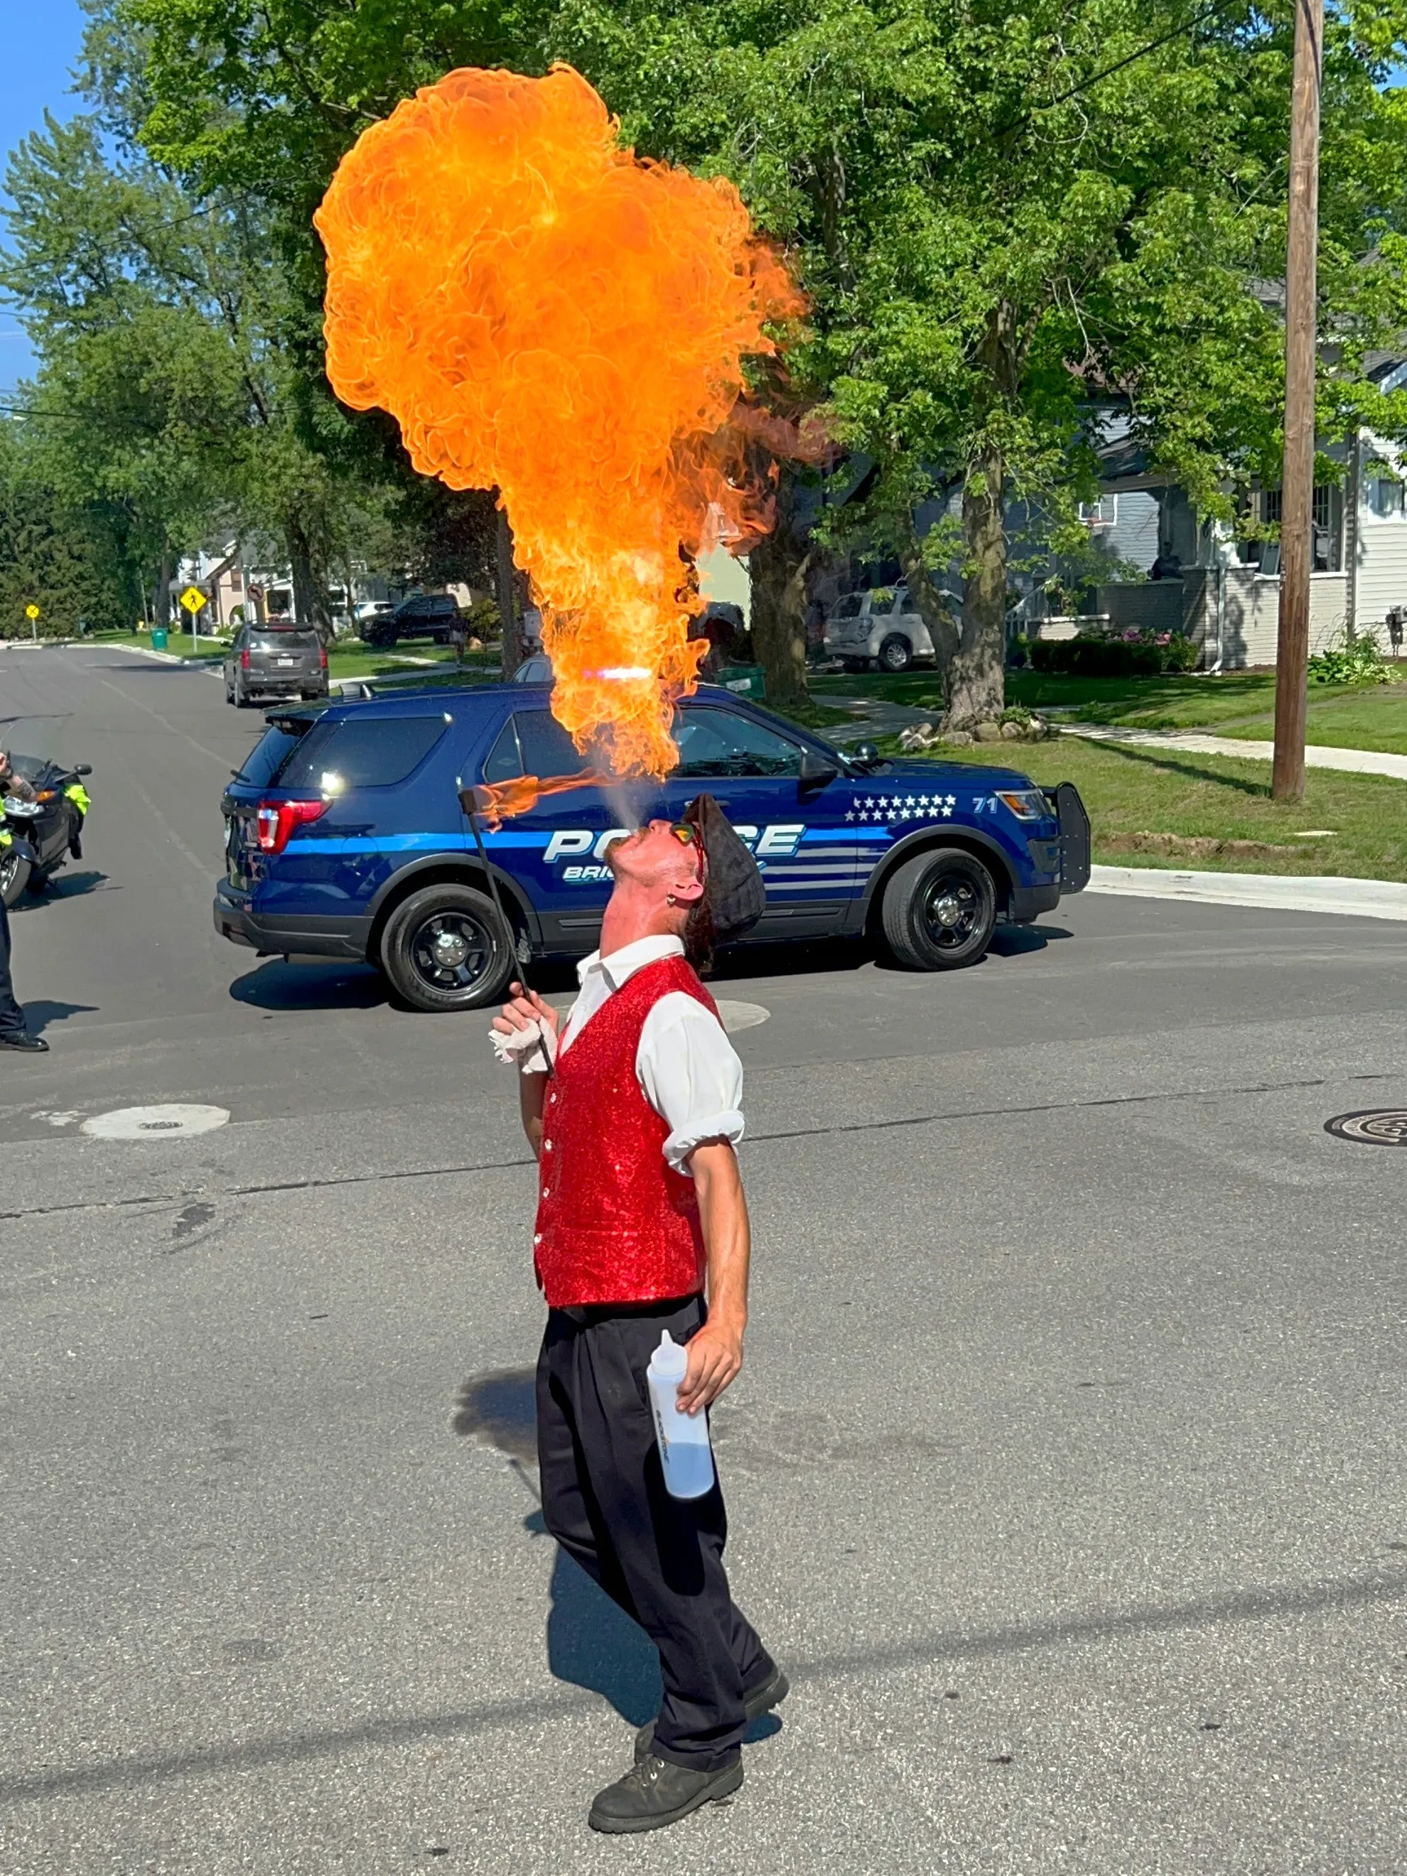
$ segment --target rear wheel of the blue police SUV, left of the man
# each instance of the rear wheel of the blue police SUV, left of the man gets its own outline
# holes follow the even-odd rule
[[[484,893],[426,885],[386,921],[381,968],[415,1009],[480,1009],[501,998],[514,951]]]

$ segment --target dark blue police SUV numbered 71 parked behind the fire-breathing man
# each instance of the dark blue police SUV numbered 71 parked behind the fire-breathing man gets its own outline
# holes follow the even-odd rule
[[[548,685],[424,688],[274,711],[225,790],[216,930],[261,957],[366,959],[416,1009],[475,1009],[514,962],[595,949],[623,818],[713,794],[756,854],[749,944],[870,932],[914,970],[976,964],[998,919],[1030,923],[1090,872],[1069,782],[844,756],[726,690],[679,705],[664,782],[568,790],[484,829],[503,929],[460,788],[583,765]]]

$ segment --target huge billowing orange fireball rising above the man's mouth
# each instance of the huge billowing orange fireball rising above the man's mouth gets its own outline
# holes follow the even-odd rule
[[[617,773],[675,762],[692,559],[767,527],[743,358],[801,311],[737,189],[640,161],[585,79],[450,71],[373,124],[315,216],[326,366],[416,469],[501,490],[552,709]]]

